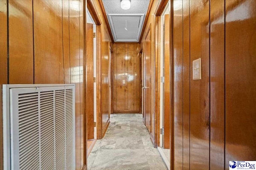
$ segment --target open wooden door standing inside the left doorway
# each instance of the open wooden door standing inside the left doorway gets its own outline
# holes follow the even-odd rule
[[[86,115],[87,136],[94,139],[93,24],[86,23]]]

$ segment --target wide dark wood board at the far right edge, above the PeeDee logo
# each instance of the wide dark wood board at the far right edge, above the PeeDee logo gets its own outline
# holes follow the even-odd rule
[[[229,4],[232,5],[229,5]],[[256,1],[226,1],[225,168],[256,160]]]

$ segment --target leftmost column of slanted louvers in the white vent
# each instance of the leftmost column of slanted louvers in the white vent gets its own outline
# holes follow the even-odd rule
[[[18,107],[20,169],[38,169],[38,93],[20,94]]]

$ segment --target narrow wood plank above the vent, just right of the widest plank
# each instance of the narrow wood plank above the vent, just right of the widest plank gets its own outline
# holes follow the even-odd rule
[[[62,0],[64,83],[70,83],[69,0]]]

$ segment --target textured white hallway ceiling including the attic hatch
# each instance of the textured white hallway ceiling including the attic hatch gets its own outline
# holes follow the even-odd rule
[[[121,8],[120,0],[102,0],[102,2],[114,41],[138,42],[150,0],[131,0],[131,7],[128,10]]]

